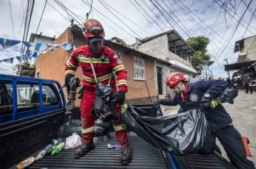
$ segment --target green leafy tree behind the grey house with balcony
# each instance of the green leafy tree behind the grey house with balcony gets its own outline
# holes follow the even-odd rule
[[[207,46],[210,43],[208,37],[205,36],[196,36],[196,37],[189,37],[186,40],[188,45],[191,45],[196,52],[193,54],[191,58],[191,64],[196,69],[198,74],[201,74],[203,66],[210,66],[214,63],[214,61],[210,60],[210,55],[207,54]]]

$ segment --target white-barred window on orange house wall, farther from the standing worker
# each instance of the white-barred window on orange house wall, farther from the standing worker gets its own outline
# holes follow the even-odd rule
[[[144,58],[133,56],[134,59],[134,78],[145,79]]]

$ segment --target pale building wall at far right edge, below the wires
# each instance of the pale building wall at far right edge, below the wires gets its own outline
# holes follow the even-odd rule
[[[246,59],[256,60],[256,36],[245,39]]]

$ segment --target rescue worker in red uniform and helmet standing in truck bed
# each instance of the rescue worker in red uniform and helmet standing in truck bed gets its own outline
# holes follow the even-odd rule
[[[97,82],[102,82],[106,85],[111,78],[110,86],[114,93],[117,92],[117,88],[115,77],[112,76],[112,73],[117,75],[117,87],[119,91],[117,94],[118,103],[116,110],[118,113],[121,112],[121,105],[124,103],[125,93],[127,93],[127,72],[121,60],[117,57],[117,54],[109,47],[103,45],[105,32],[102,24],[96,19],[88,19],[85,21],[82,33],[88,45],[76,48],[65,64],[65,85],[67,87],[70,87],[69,81],[75,76],[78,66],[81,66],[84,78],[82,84],[85,90],[80,103],[83,143],[75,151],[74,158],[80,158],[95,148],[93,142],[95,118],[90,114],[90,110],[94,107],[96,83],[92,73],[92,67],[90,66],[90,57],[92,57]],[[112,122],[112,125],[117,141],[122,146],[120,163],[127,164],[132,160],[132,146],[129,144],[125,124],[117,119]]]

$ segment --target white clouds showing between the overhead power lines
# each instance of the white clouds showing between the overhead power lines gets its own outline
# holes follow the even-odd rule
[[[82,18],[86,17],[86,13],[89,11],[89,7],[84,2],[79,1],[79,0],[77,0],[77,1],[62,0],[62,1],[63,1],[64,5],[70,9],[70,11],[73,11],[74,13],[78,14],[79,16],[82,16]],[[88,1],[90,1],[90,0],[88,0]],[[131,1],[133,4],[135,4],[135,6],[137,6],[137,8],[139,8],[139,10],[142,13],[144,13],[144,11],[142,11],[142,9],[137,5],[137,3],[134,0],[131,0]],[[136,0],[136,1],[140,4],[140,6],[142,6],[142,8],[144,8],[144,10],[147,13],[149,13],[151,18],[153,18],[154,21],[156,21],[157,25],[159,25],[164,31],[176,29],[178,31],[178,33],[185,40],[188,38],[188,35],[186,35],[186,33],[184,33],[183,30],[181,30],[181,28],[177,28],[177,26],[173,23],[171,23],[171,25],[169,25],[169,23],[166,21],[164,16],[161,15],[159,10],[151,3],[151,1],[144,0],[145,3],[151,8],[152,11],[154,11],[154,13],[156,13],[156,16],[158,16],[159,18],[154,16],[154,13],[152,13],[149,10],[149,8],[147,8],[147,6],[143,3],[142,0]],[[154,1],[154,0],[152,0],[152,1]],[[207,35],[208,36],[208,34],[210,33],[210,28],[213,27],[215,19],[217,18],[218,13],[220,12],[220,6],[218,6],[218,4],[216,4],[214,1],[211,1],[211,0],[206,0],[206,1],[184,0],[184,1],[182,1],[182,3],[185,4],[191,11],[193,11],[193,13],[196,14],[196,11],[198,12],[198,16],[201,18],[201,20],[203,22],[205,22],[210,27],[210,28],[208,28],[208,26],[206,26],[204,23],[202,23],[196,16],[193,15],[193,13],[188,11],[188,9],[185,6],[183,6],[179,1],[175,1],[176,3],[179,4],[179,6],[182,7],[182,9],[186,10],[189,13],[189,15],[191,15],[191,17],[189,17],[189,18],[191,18],[191,20],[194,21],[196,24],[191,22],[191,20],[181,11],[181,9],[176,6],[176,3],[174,4],[174,1],[173,0],[164,0],[166,5],[162,1],[157,1],[157,2],[159,4],[161,4],[161,6],[166,11],[169,12],[171,17],[174,18],[174,20],[176,21],[176,23],[181,25],[181,23],[179,23],[178,20],[183,23],[183,25],[189,31],[189,33],[186,31],[189,35],[192,34],[193,36],[197,36],[197,35]],[[216,1],[218,1],[218,3],[221,4],[219,0],[216,0]],[[26,0],[23,0],[24,10],[26,8],[26,2],[27,2]],[[112,11],[124,23],[126,23],[129,26],[129,28],[132,28],[132,30],[134,30],[134,32],[137,33],[139,35],[139,37],[149,37],[151,35],[158,34],[159,31],[162,32],[162,30],[154,23],[154,21],[152,21],[151,18],[149,18],[149,16],[147,16],[146,13],[144,13],[144,16],[146,16],[146,18],[148,18],[149,21],[151,23],[153,23],[154,26],[157,28],[157,30],[156,30],[156,28],[154,28],[151,25],[151,23],[149,23],[146,20],[146,18],[144,18],[144,16],[142,16],[142,14],[137,10],[137,8],[135,8],[132,5],[132,3],[129,0],[122,0],[122,1],[109,0],[109,1],[104,1],[104,2],[107,3],[108,5],[112,6],[112,8],[114,8],[116,11],[119,11],[124,16],[129,18],[129,20],[133,21],[134,23],[137,23],[137,25],[139,25],[144,30],[146,30],[146,31],[144,31],[141,28],[138,28],[136,25],[127,21],[127,19],[123,18],[122,16],[120,16],[118,13],[114,12],[110,8],[110,11]],[[196,10],[193,6],[193,2],[196,6]],[[223,2],[224,2],[224,0],[223,0]],[[237,8],[238,8],[239,2],[240,1],[236,1]],[[63,14],[63,16],[65,16],[65,18],[68,18],[68,14],[65,11],[63,11],[63,9],[60,8],[60,6],[58,6],[58,4],[56,4],[53,0],[48,0],[48,3],[50,3],[54,8],[56,8],[58,10],[58,12]],[[234,1],[231,1],[231,3],[234,5]],[[247,3],[249,3],[249,1]],[[22,19],[23,8],[22,8],[21,1],[12,0],[11,4],[12,4],[11,7],[12,7],[12,11],[13,11],[13,18],[14,18],[14,27],[15,27],[14,29],[15,29],[15,34],[17,36],[18,30],[21,28],[21,19]],[[30,37],[31,33],[36,33],[36,28],[38,27],[38,23],[41,18],[44,4],[45,4],[45,1],[35,1],[35,5],[33,8],[33,15],[31,18],[31,26],[28,31],[28,37]],[[154,4],[156,4],[155,1],[154,1]],[[238,10],[236,11],[238,13],[238,16],[241,16],[243,6],[244,6],[244,4],[241,3]],[[98,14],[102,18],[101,19],[99,16],[97,16],[97,14],[96,14],[97,12],[95,10],[92,10],[93,18],[96,18],[97,20],[101,21],[102,24],[104,25],[107,39],[115,36],[115,37],[124,39],[124,41],[127,42],[127,44],[130,44],[131,42],[132,43],[135,42],[134,37],[138,37],[138,35],[133,33],[132,30],[129,30],[129,28],[127,28],[126,25],[124,25],[115,16],[113,16],[112,13],[110,13],[110,11],[108,11],[104,6],[102,6],[102,4],[100,4],[99,0],[93,1],[93,7],[96,8],[98,11],[100,11],[100,13],[102,13],[104,16],[106,16],[106,18],[105,18],[104,16],[101,16],[100,14]],[[175,13],[175,15],[178,17],[178,20],[169,11],[168,7],[171,8],[171,10]],[[227,9],[227,10],[231,14],[233,14],[234,9],[229,4],[229,1],[228,1],[228,8],[230,8],[232,11],[230,11],[229,9]],[[250,8],[252,9],[252,11],[255,10],[255,8],[256,8],[255,1],[252,1]],[[0,25],[1,25],[0,26],[0,37],[6,37],[6,38],[12,39],[14,37],[14,35],[12,34],[11,18],[10,18],[10,14],[9,14],[9,5],[8,5],[7,0],[1,1],[0,11],[2,11],[1,12],[2,15],[0,18]],[[245,8],[243,9],[243,11],[245,11]],[[46,35],[46,36],[53,37],[54,35],[56,35],[56,37],[58,37],[61,33],[63,33],[65,28],[68,28],[68,26],[70,25],[70,22],[66,21],[65,18],[63,18],[63,16],[60,16],[60,14],[58,12],[55,11],[55,9],[53,9],[49,4],[46,5],[46,10],[44,12],[44,15],[43,15],[43,18],[41,21],[41,25],[38,29],[38,33],[42,32],[42,34]],[[90,14],[90,18],[92,18],[92,13]],[[235,16],[235,18],[237,20],[239,20],[238,16]],[[251,16],[252,16],[252,14],[250,13],[250,11],[247,10],[243,20],[246,21],[246,23],[249,23]],[[113,21],[115,24],[119,25],[124,30],[117,27],[117,25],[115,25],[114,23],[108,21],[107,18],[110,19],[111,21]],[[227,23],[230,23],[230,21],[231,21],[231,18],[228,13],[226,13],[226,20],[227,20]],[[169,19],[169,21],[170,21],[170,19]],[[213,31],[211,32],[211,35],[209,37],[211,42],[210,42],[210,45],[208,45],[208,52],[210,54],[213,54],[213,56],[215,56],[215,57],[218,57],[220,55],[220,57],[218,58],[218,63],[221,65],[222,69],[220,69],[220,66],[218,66],[217,63],[213,64],[213,66],[212,66],[213,75],[217,75],[217,74],[221,73],[222,71],[224,71],[223,59],[230,58],[229,62],[236,61],[234,58],[238,57],[238,54],[233,54],[233,48],[234,48],[233,46],[235,44],[235,41],[240,40],[242,38],[242,35],[245,33],[245,28],[242,25],[247,27],[247,24],[244,21],[241,22],[233,39],[230,40],[230,45],[228,45],[228,47],[226,47],[223,54],[220,55],[220,52],[222,52],[225,45],[227,44],[227,42],[225,42],[225,41],[228,39],[228,37],[232,33],[233,28],[235,28],[235,24],[238,23],[238,21],[233,19],[233,21],[231,21],[231,23],[230,23],[228,30],[225,33],[225,30],[226,30],[226,28],[225,28],[225,25],[226,25],[225,12],[223,9],[221,10],[220,16],[218,17],[218,20],[216,21],[215,26],[213,28],[215,33]],[[167,27],[163,23],[166,24]],[[185,30],[183,25],[181,25],[181,27]],[[250,25],[251,25],[251,27],[249,27],[247,32],[245,33],[245,37],[250,37],[250,36],[256,34],[255,18],[252,18],[252,22],[250,23]],[[198,29],[198,27],[200,29]],[[203,30],[203,28],[205,30]],[[255,29],[253,29],[253,28],[255,28]],[[146,32],[148,32],[148,33],[146,33]],[[221,37],[223,37],[224,40],[222,40],[218,35],[216,35],[216,33],[218,33]],[[122,37],[119,34],[122,35]],[[129,34],[131,34],[132,36]],[[22,36],[23,36],[23,27],[21,28],[21,35],[19,35],[17,39],[21,40]],[[0,51],[0,59],[5,56],[15,57],[14,54],[16,54],[16,53],[12,52],[11,54],[9,54],[9,51],[8,52]],[[1,67],[1,65],[0,65],[0,67]],[[218,76],[223,76],[223,78],[224,78],[224,77],[227,77],[228,75],[226,74],[226,72],[223,72],[222,74],[220,74]]]

